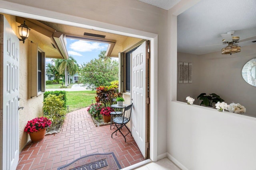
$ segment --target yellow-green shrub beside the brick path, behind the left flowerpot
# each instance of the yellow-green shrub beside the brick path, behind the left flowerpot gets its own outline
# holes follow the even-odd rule
[[[44,116],[52,121],[52,126],[48,130],[56,130],[62,125],[65,116],[66,108],[64,107],[63,95],[58,96],[49,94],[44,99]]]

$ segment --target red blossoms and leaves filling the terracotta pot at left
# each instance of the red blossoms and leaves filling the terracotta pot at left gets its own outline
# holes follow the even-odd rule
[[[50,127],[52,124],[52,121],[48,119],[47,117],[36,117],[30,121],[28,121],[24,132],[26,133],[33,133],[38,132],[41,129],[44,129],[46,127]]]

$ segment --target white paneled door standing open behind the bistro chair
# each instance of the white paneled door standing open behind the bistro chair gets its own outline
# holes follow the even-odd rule
[[[131,98],[133,102],[132,111],[132,136],[136,141],[144,158],[147,158],[147,116],[146,116],[146,46],[145,41],[132,52],[132,82],[131,82]]]

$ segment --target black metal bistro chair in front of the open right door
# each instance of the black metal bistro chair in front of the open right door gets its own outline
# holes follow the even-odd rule
[[[131,113],[132,113],[132,104],[130,104],[129,106],[126,106],[124,108],[124,112],[122,113],[122,116],[120,117],[114,117],[113,122],[115,123],[115,126],[117,127],[117,129],[112,133],[111,137],[113,138],[113,134],[117,133],[117,131],[119,131],[123,137],[124,137],[124,141],[126,142],[126,136],[131,133],[130,129],[126,126],[126,124],[130,121],[131,119]],[[122,127],[126,127],[128,129],[128,133],[126,135],[124,135],[121,131]],[[132,133],[131,133],[132,136]]]

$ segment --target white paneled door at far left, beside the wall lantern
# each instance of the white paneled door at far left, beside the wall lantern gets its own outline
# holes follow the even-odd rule
[[[4,18],[3,39],[3,170],[19,160],[19,39]]]

